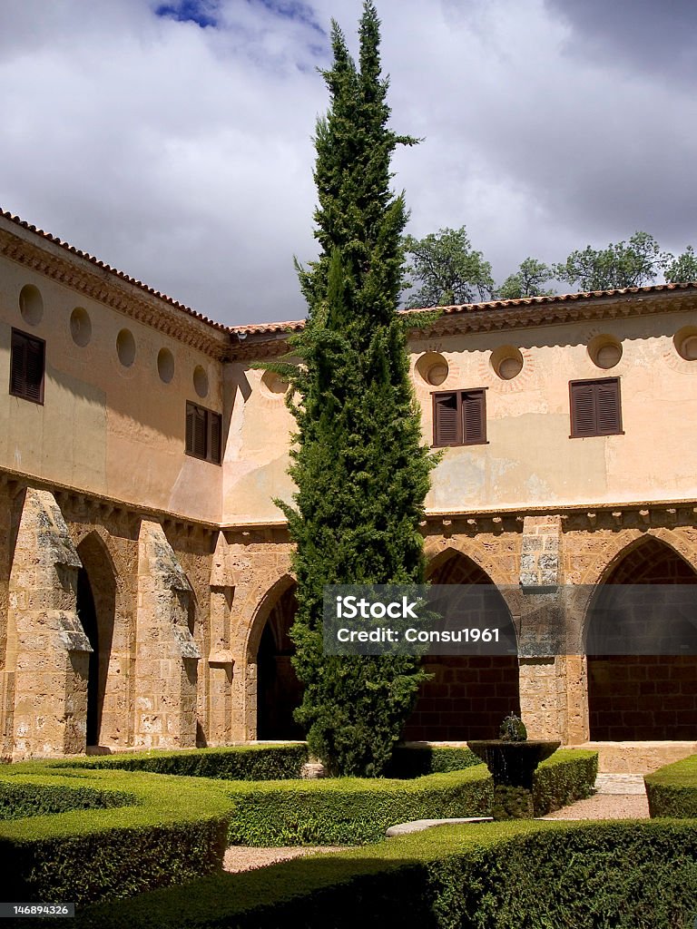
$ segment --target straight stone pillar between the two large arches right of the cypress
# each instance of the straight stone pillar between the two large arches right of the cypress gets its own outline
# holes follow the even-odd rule
[[[561,519],[525,517],[520,556],[520,715],[531,739],[568,741]]]

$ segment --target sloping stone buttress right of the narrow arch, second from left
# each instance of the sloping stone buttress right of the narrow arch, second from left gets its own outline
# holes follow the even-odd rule
[[[201,652],[191,635],[193,592],[159,523],[138,537],[136,725],[142,748],[196,745],[196,680]]]

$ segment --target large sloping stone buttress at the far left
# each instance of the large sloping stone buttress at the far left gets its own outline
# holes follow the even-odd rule
[[[80,559],[48,491],[26,493],[10,572],[13,756],[85,752],[89,645],[75,611]]]

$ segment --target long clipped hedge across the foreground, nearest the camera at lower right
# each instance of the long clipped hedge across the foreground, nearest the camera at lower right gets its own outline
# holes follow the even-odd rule
[[[441,827],[90,907],[75,929],[677,929],[697,914],[697,824]]]

